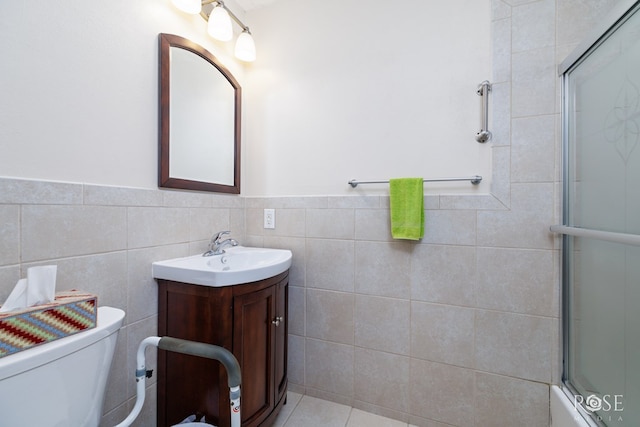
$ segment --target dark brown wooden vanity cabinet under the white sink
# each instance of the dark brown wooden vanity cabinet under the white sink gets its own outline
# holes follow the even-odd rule
[[[242,370],[243,427],[270,426],[287,392],[289,272],[242,285],[158,280],[158,335],[230,350]],[[229,387],[215,360],[158,350],[158,426],[191,414],[231,425]]]

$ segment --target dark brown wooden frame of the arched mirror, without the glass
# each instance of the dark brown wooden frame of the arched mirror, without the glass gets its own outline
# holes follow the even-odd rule
[[[177,47],[188,50],[215,67],[231,84],[235,92],[234,123],[234,170],[233,185],[216,182],[194,181],[170,176],[170,114],[171,114],[171,55],[170,49]],[[240,85],[213,54],[188,39],[172,34],[160,34],[160,141],[158,158],[158,186],[183,190],[211,191],[217,193],[240,194],[240,116],[242,89]],[[212,165],[214,167],[215,165]]]

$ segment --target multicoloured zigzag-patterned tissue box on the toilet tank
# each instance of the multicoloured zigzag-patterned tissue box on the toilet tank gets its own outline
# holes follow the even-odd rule
[[[71,290],[48,304],[0,313],[0,357],[95,328],[97,312],[97,296]]]

